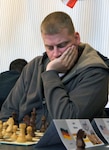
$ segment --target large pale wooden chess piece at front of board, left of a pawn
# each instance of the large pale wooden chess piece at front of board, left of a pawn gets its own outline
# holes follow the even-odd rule
[[[19,143],[25,143],[26,142],[25,128],[26,128],[25,123],[20,123],[19,124],[20,133],[19,133],[19,135],[17,137],[17,140],[16,140]]]

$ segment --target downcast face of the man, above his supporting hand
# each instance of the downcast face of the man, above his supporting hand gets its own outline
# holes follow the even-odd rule
[[[60,57],[72,45],[76,46],[76,38],[66,29],[54,35],[42,34],[42,38],[50,61]]]

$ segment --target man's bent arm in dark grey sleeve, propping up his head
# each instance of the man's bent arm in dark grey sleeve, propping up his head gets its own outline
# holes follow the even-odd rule
[[[104,69],[88,68],[67,83],[55,71],[42,74],[46,104],[55,119],[102,115],[107,103],[108,75]]]

